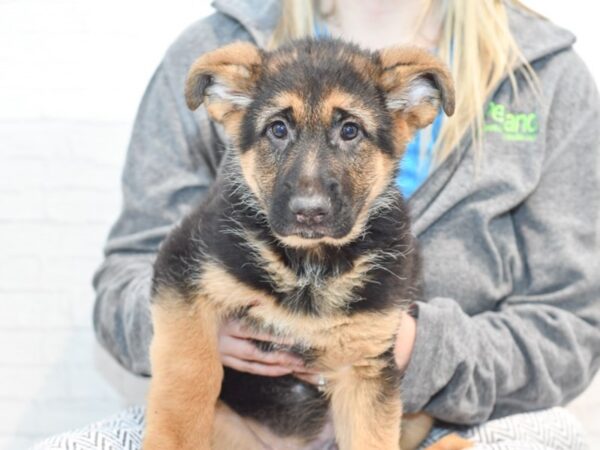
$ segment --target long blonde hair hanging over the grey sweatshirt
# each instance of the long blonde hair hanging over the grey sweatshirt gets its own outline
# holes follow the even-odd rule
[[[520,1],[510,1],[531,12]],[[438,56],[450,67],[457,82],[456,112],[442,122],[434,148],[434,159],[439,164],[468,130],[476,149],[480,149],[484,104],[507,76],[517,92],[515,67],[536,93],[537,78],[510,31],[503,0],[423,0],[423,3],[423,18],[433,8],[445,8]],[[283,0],[271,47],[313,35],[317,20],[324,16],[319,5],[318,0]]]

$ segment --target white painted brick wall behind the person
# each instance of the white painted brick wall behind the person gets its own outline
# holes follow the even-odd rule
[[[571,24],[584,4],[531,3]],[[208,0],[0,0],[0,449],[143,401],[145,381],[95,343],[91,276],[143,89],[209,12]],[[574,406],[596,433],[599,391]]]

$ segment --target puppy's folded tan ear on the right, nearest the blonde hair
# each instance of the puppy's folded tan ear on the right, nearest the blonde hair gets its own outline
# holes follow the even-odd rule
[[[380,85],[387,106],[411,129],[429,125],[440,105],[454,113],[454,84],[446,66],[425,50],[391,47],[379,52]]]

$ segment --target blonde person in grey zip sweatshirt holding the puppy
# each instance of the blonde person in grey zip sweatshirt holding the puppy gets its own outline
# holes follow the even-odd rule
[[[503,448],[523,440],[564,448],[559,439],[583,448],[574,419],[549,409],[581,393],[600,366],[600,103],[573,35],[511,0],[217,0],[215,8],[169,49],[140,106],[123,211],[94,279],[100,342],[128,370],[150,375],[152,263],[211,185],[227,140],[205,111],[185,106],[185,76],[200,54],[305,36],[418,45],[448,64],[457,98],[452,118],[440,115],[408,146],[398,176],[425,294],[397,334],[405,412],[443,422],[434,435],[460,426],[489,448],[494,429],[509,436]],[[256,339],[270,337],[223,326],[222,363],[320,382],[293,354],[262,352]],[[331,430],[317,445],[332,445]]]

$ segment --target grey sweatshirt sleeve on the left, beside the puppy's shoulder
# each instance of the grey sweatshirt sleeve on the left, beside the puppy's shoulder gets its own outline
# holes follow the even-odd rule
[[[173,72],[163,62],[140,105],[122,176],[122,211],[94,276],[97,337],[125,368],[143,375],[150,373],[149,300],[158,246],[200,201],[215,170],[198,113],[184,104],[184,74]]]

